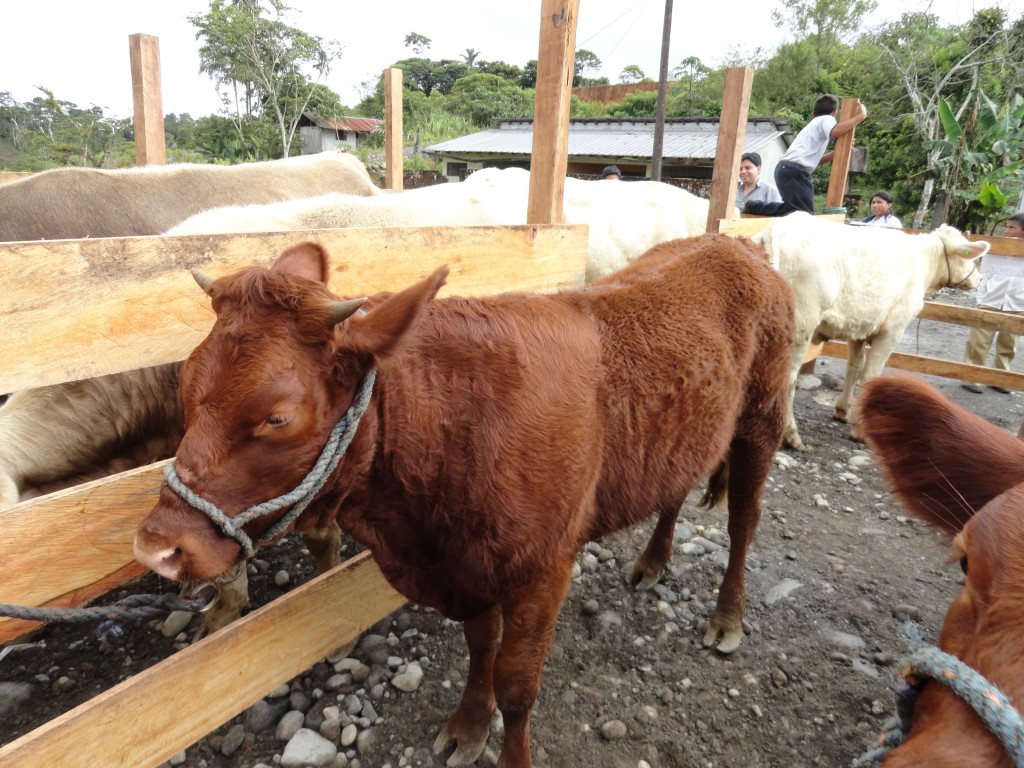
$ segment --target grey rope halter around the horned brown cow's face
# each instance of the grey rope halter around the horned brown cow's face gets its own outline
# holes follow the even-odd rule
[[[337,469],[338,463],[352,441],[352,437],[355,436],[359,420],[370,406],[370,396],[373,394],[376,378],[377,372],[374,369],[367,372],[355,392],[351,407],[341,417],[334,429],[331,430],[331,436],[321,452],[316,464],[293,490],[284,496],[279,496],[276,499],[249,507],[249,509],[237,517],[231,518],[219,510],[216,505],[203,499],[185,485],[174,469],[173,460],[169,461],[164,467],[164,477],[167,479],[168,487],[177,494],[186,504],[209,517],[224,532],[224,536],[237,541],[245,551],[247,558],[252,557],[257,549],[272,542],[288,529],[288,526],[309,506],[309,503],[312,502],[324,487],[324,483],[327,482],[327,479]],[[242,529],[253,520],[273,514],[274,512],[280,512],[286,507],[291,507],[291,509],[263,534],[257,542],[253,543],[249,535]]]

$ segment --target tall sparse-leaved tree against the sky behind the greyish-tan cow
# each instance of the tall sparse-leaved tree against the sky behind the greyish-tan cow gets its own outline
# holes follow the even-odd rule
[[[285,157],[313,95],[307,73],[316,82],[341,56],[336,42],[286,24],[290,10],[283,0],[211,0],[209,13],[188,17],[203,41],[200,71],[216,83],[240,139],[252,143],[265,117],[276,126]]]

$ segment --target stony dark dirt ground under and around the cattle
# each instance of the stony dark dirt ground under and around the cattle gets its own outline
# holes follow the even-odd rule
[[[973,303],[971,296],[948,291],[936,298]],[[966,337],[956,326],[915,322],[900,350],[959,359]],[[798,393],[797,417],[811,450],[780,454],[770,477],[748,565],[752,631],[735,653],[722,656],[700,647],[722,568],[720,553],[693,554],[700,549],[693,537],[722,541],[724,511],[686,505],[671,572],[651,592],[637,593],[624,579],[651,525],[590,545],[581,556],[535,710],[537,765],[836,767],[849,765],[872,743],[892,713],[889,685],[906,651],[905,622],[915,621],[925,638],[934,639],[959,571],[948,562],[941,538],[907,519],[889,497],[869,452],[849,439],[849,427],[830,420],[844,365],[819,360],[815,376],[821,385]],[[973,394],[958,382],[929,380],[1012,432],[1024,418],[1021,393]],[[273,582],[280,569],[291,573],[293,584],[312,574],[294,543],[261,559],[263,572],[254,580],[257,604],[281,594]],[[165,591],[167,585],[146,578],[137,589]],[[40,635],[45,648],[0,659],[0,685],[32,686],[26,701],[0,711],[0,741],[174,650],[174,640],[153,626],[125,629],[119,640],[97,641],[91,629],[51,628]],[[390,655],[398,659],[391,668],[419,659],[423,681],[415,691],[400,692],[386,684],[394,669],[382,670],[381,695],[367,694],[375,713],[370,735],[360,737],[357,753],[349,751],[333,765],[354,765],[350,758],[362,768],[444,765],[446,756],[433,757],[430,745],[458,701],[466,673],[459,627],[409,607],[374,633],[393,637],[383,656],[372,643],[354,652],[374,668],[372,675]],[[337,706],[347,691],[359,694],[357,686],[339,688],[337,695],[329,690],[333,674],[322,663],[292,681],[291,706],[305,697],[306,710],[323,710]],[[231,726],[242,722],[240,716],[217,728],[178,764],[280,763],[285,744],[272,726],[226,749]],[[494,764],[500,743],[500,732],[493,732],[480,765]]]

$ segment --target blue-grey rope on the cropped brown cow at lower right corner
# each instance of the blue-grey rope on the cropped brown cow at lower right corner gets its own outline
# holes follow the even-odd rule
[[[942,683],[971,706],[985,726],[999,739],[1007,756],[1016,768],[1024,768],[1024,718],[1014,709],[1002,691],[956,656],[933,645],[919,648],[900,670],[902,677],[914,689],[924,686],[924,679]],[[891,749],[898,746],[910,731],[912,701],[897,707],[898,715],[886,724],[880,745],[853,762],[854,768],[879,765]]]

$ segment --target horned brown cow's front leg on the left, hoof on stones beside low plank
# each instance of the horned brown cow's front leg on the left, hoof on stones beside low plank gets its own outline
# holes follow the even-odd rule
[[[483,752],[490,718],[495,714],[495,655],[502,630],[501,606],[495,605],[476,618],[463,624],[469,646],[469,677],[459,709],[434,739],[439,755],[453,742],[458,744],[449,765],[469,765]]]

